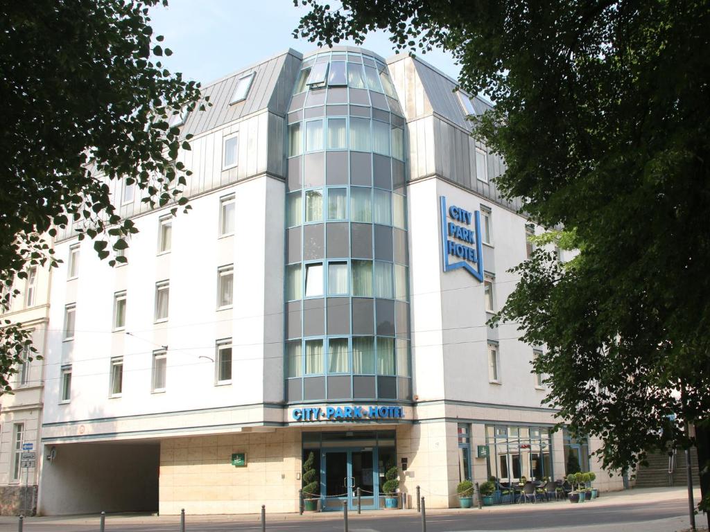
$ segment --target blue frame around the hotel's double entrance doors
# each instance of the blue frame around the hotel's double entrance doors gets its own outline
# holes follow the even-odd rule
[[[339,494],[344,495],[340,497],[328,497],[326,495],[328,492],[327,487],[327,467],[328,467],[328,455],[335,455],[337,453],[345,453],[347,460],[346,475],[343,477],[342,482],[339,480],[334,480],[334,482],[339,482],[336,486],[331,487],[331,491],[337,491]],[[378,465],[378,451],[377,447],[372,448],[361,448],[361,447],[344,447],[344,448],[327,448],[321,449],[320,456],[320,497],[321,497],[321,508],[323,511],[342,511],[343,501],[348,504],[349,510],[357,509],[357,488],[359,487],[359,482],[356,482],[356,473],[354,471],[354,460],[353,455],[356,453],[372,453],[372,494],[362,492],[361,508],[364,510],[374,510],[380,507],[380,475],[379,475],[379,465]],[[334,456],[332,457],[335,458]],[[333,501],[337,501],[333,504]]]

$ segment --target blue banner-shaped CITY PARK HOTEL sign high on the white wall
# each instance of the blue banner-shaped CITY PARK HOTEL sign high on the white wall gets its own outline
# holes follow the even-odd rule
[[[481,249],[481,212],[466,211],[455,205],[447,209],[446,196],[439,196],[442,218],[442,262],[444,272],[464,268],[483,282],[484,257]],[[448,216],[447,216],[448,215]]]

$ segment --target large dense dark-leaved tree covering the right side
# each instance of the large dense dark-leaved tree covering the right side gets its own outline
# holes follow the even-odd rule
[[[444,48],[491,97],[474,135],[506,159],[498,187],[579,250],[569,265],[537,250],[498,319],[546,345],[547,402],[602,439],[605,467],[687,447],[687,423],[708,430],[710,4],[306,3],[296,33],[331,45],[381,28],[400,50]]]

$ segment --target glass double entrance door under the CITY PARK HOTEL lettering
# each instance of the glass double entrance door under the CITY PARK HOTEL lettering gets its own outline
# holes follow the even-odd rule
[[[321,456],[321,507],[324,511],[357,509],[357,489],[361,491],[361,508],[375,509],[378,500],[376,450],[324,450]]]

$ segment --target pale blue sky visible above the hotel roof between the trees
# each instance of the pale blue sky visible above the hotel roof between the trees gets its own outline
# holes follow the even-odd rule
[[[150,17],[154,35],[164,35],[163,45],[173,50],[163,58],[165,67],[204,85],[288,48],[314,50],[314,43],[292,35],[306,12],[293,0],[170,0],[167,8],[153,7]],[[371,33],[362,46],[394,55],[385,32]],[[420,57],[454,79],[459,75],[449,54],[434,50]]]

